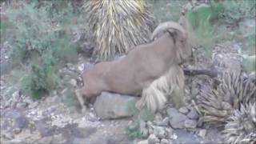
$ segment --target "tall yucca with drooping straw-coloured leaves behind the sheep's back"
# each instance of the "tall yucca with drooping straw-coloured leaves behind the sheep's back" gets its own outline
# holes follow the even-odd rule
[[[90,0],[85,2],[85,10],[94,54],[102,60],[150,39],[153,18],[145,0]]]

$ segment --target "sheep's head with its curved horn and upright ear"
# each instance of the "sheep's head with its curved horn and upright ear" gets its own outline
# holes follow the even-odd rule
[[[175,51],[178,63],[186,61],[192,55],[192,47],[190,45],[189,25],[182,14],[178,22],[163,22],[161,23],[151,35],[151,40],[155,40],[168,32],[175,42]]]

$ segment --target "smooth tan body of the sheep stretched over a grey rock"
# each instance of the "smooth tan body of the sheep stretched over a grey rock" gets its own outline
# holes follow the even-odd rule
[[[174,22],[175,23],[175,22]],[[184,61],[186,50],[186,30],[182,26],[168,27],[168,33],[162,34],[153,42],[136,46],[125,58],[113,62],[101,62],[82,74],[84,86],[76,90],[76,95],[83,106],[87,98],[98,96],[102,91],[118,94],[158,94],[151,83],[166,74],[168,70],[177,69]],[[184,43],[185,42],[185,43]],[[170,69],[174,67],[173,69]],[[175,68],[176,67],[176,68]],[[171,72],[174,74],[174,72]],[[177,83],[177,82],[173,82]],[[154,104],[154,97],[145,98],[146,106],[157,110],[166,102],[166,98],[159,97],[158,104]]]

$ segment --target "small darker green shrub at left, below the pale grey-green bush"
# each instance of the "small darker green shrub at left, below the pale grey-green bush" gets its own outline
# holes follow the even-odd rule
[[[51,54],[43,54],[42,57],[34,59],[34,63],[28,68],[29,74],[22,82],[25,94],[32,98],[41,98],[43,94],[54,90],[59,80],[55,65],[56,59]]]

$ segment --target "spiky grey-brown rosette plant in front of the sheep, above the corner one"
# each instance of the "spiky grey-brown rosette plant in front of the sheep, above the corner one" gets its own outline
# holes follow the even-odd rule
[[[220,84],[216,89],[210,86],[202,88],[198,107],[204,114],[203,122],[223,126],[234,110],[240,110],[241,104],[255,102],[256,86],[235,72],[225,73],[218,80]]]

